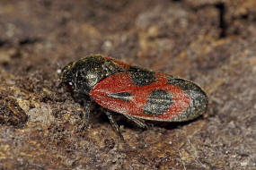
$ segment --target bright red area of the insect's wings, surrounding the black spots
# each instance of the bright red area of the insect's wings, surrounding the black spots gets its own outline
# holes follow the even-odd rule
[[[190,106],[190,97],[179,87],[168,84],[164,73],[156,73],[156,81],[145,86],[137,86],[130,79],[128,72],[118,72],[98,82],[90,91],[90,96],[99,105],[124,115],[132,115],[149,120],[167,121],[172,116],[180,115]],[[162,115],[146,115],[143,108],[146,98],[154,89],[167,90],[172,94],[172,106]],[[128,92],[130,101],[110,98],[108,94]]]

